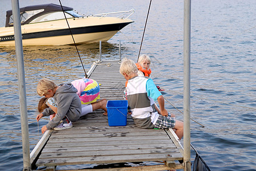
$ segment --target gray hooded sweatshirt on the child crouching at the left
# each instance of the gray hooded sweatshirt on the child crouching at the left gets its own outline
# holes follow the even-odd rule
[[[58,113],[46,124],[47,129],[56,127],[65,116],[72,122],[77,121],[81,116],[81,100],[77,95],[77,89],[71,83],[59,86],[53,96],[58,105]],[[50,116],[54,111],[46,108],[42,113],[43,116]]]

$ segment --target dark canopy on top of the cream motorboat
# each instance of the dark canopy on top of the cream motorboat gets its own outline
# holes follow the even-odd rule
[[[64,11],[73,11],[73,8],[62,6]],[[30,23],[35,18],[38,18],[44,14],[52,13],[54,11],[62,11],[62,7],[60,5],[56,5],[54,3],[48,3],[43,5],[33,5],[22,7],[21,12],[21,25],[26,25]],[[13,26],[13,11],[6,11],[6,23],[5,27]]]

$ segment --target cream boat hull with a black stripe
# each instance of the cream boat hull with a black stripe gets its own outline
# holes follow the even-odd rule
[[[68,22],[70,27],[65,20],[22,26],[23,46],[59,46],[74,44],[74,40],[76,44],[107,41],[133,21],[112,17],[91,17],[69,19]],[[14,45],[13,27],[0,28],[0,46]]]

